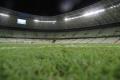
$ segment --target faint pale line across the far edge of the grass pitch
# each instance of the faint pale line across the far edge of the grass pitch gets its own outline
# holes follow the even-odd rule
[[[4,49],[30,49],[30,48],[37,48],[37,49],[40,49],[40,48],[55,48],[55,47],[65,47],[65,48],[95,48],[95,47],[98,47],[98,48],[120,48],[120,46],[76,46],[76,45],[66,45],[66,46],[39,46],[39,47],[0,47],[0,50],[4,50]]]

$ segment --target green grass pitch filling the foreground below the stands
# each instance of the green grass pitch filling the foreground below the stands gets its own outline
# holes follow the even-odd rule
[[[120,80],[120,45],[2,43],[0,80]]]

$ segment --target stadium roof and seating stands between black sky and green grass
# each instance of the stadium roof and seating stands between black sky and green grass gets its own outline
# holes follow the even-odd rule
[[[0,42],[120,43],[120,0],[52,17],[0,8]]]

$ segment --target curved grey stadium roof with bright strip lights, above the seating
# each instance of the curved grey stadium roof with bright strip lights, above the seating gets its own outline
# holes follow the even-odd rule
[[[26,24],[18,24],[18,19]],[[91,6],[53,17],[42,17],[0,8],[1,27],[64,30],[120,22],[120,0],[101,0]]]

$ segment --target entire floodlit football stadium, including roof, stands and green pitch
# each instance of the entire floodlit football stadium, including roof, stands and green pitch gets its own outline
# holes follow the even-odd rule
[[[55,16],[0,7],[0,80],[120,80],[120,0]]]

